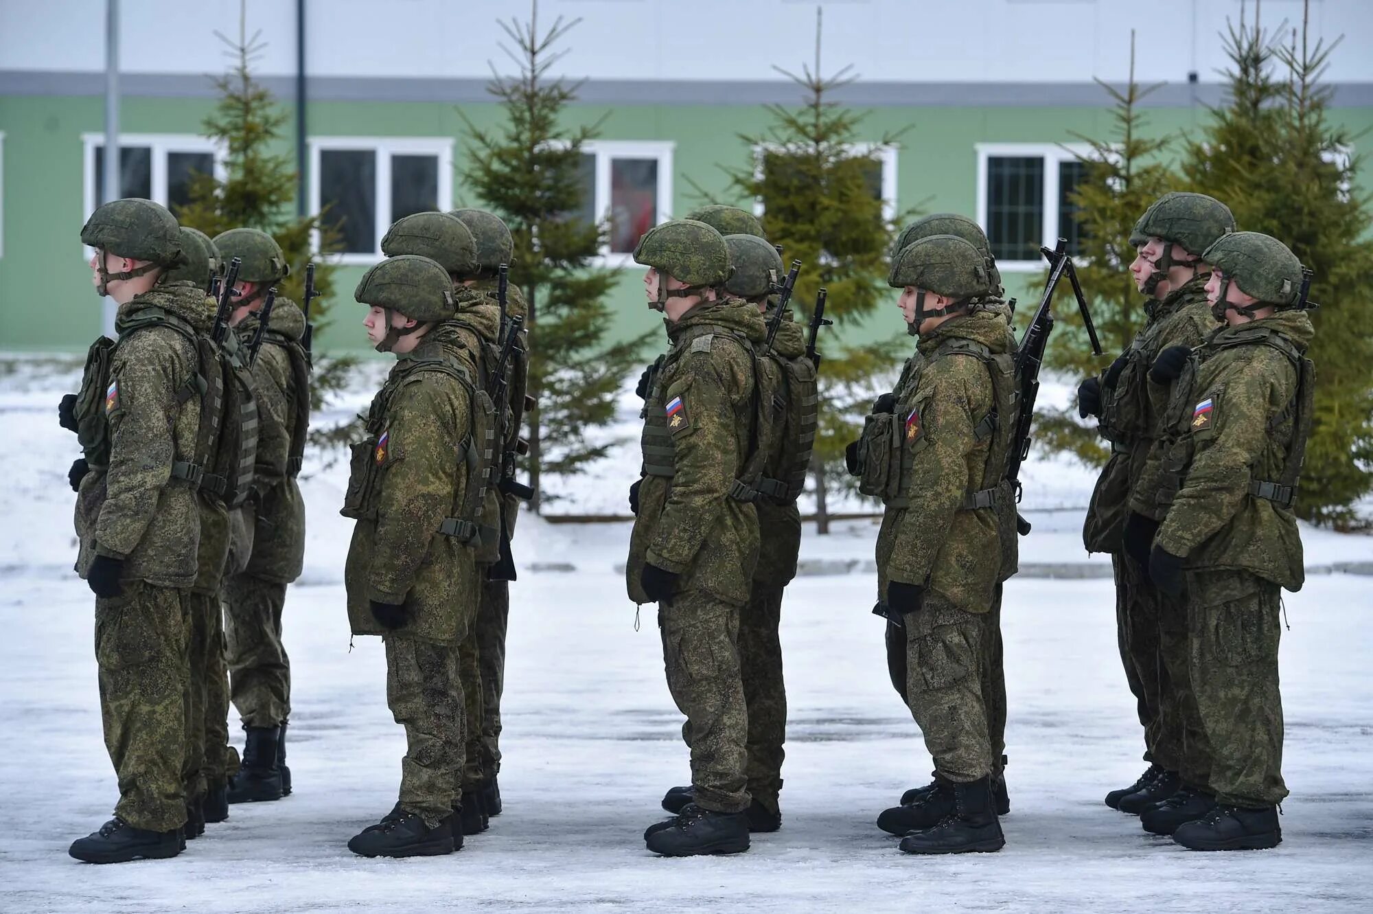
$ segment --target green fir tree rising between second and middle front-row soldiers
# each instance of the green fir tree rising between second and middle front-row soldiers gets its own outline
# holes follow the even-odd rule
[[[625,376],[637,365],[648,335],[607,343],[611,324],[605,295],[616,283],[612,270],[593,269],[610,226],[568,218],[582,204],[582,144],[596,128],[560,124],[579,84],[548,80],[562,56],[551,52],[581,19],[559,16],[538,32],[538,3],[529,22],[501,22],[518,54],[519,77],[496,75],[489,92],[500,99],[507,121],[498,130],[476,128],[459,111],[474,141],[463,174],[476,196],[505,220],[515,237],[511,281],[529,302],[529,392],[538,406],[526,413],[530,442],[533,511],[544,500],[546,473],[571,475],[603,457],[616,442],[592,443],[588,432],[615,417]]]

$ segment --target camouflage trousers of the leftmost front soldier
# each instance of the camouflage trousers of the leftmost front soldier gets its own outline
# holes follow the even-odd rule
[[[187,591],[125,581],[95,601],[104,745],[119,781],[115,815],[170,832],[185,822]]]

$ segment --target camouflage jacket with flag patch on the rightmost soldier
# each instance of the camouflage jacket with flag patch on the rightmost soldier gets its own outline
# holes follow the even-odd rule
[[[1155,509],[1167,512],[1155,542],[1185,557],[1185,567],[1243,570],[1302,587],[1302,537],[1291,508],[1249,494],[1249,484],[1282,473],[1297,372],[1281,346],[1300,354],[1314,335],[1306,312],[1222,327],[1197,350],[1195,377],[1184,372],[1174,386],[1166,453],[1146,472],[1164,501]]]

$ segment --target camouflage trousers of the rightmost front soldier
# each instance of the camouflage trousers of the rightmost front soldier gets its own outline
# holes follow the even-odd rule
[[[1278,586],[1247,571],[1190,572],[1186,583],[1190,685],[1212,753],[1208,786],[1227,806],[1281,803]]]

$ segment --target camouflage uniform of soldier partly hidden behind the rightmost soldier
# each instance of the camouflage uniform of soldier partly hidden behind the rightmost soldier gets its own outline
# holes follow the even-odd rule
[[[1109,386],[1101,382],[1101,436],[1111,460],[1101,471],[1087,506],[1083,543],[1109,552],[1116,585],[1116,642],[1126,682],[1144,727],[1145,759],[1177,771],[1193,786],[1207,784],[1210,749],[1188,685],[1186,607],[1149,581],[1124,553],[1122,534],[1130,513],[1130,490],[1160,434],[1171,386],[1149,380],[1149,366],[1170,346],[1199,346],[1215,328],[1205,301],[1210,272],[1200,273],[1163,299],[1144,306],[1145,324],[1126,350],[1126,364]],[[1144,512],[1149,517],[1156,509]]]

